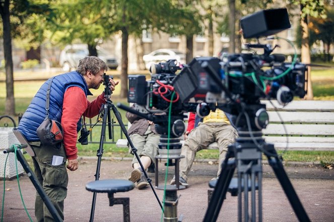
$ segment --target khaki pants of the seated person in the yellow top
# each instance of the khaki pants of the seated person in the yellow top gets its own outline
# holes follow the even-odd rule
[[[222,171],[222,162],[225,159],[228,145],[234,143],[238,137],[237,130],[231,125],[223,123],[199,123],[193,129],[182,146],[181,155],[185,158],[180,159],[180,176],[187,180],[187,174],[191,169],[196,152],[207,149],[214,142],[219,147],[219,168],[217,176]]]

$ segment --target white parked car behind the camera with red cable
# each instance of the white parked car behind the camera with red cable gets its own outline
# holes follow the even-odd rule
[[[143,56],[146,69],[150,69],[152,64],[166,62],[169,59],[176,59],[179,63],[185,64],[185,54],[176,49],[157,49]]]

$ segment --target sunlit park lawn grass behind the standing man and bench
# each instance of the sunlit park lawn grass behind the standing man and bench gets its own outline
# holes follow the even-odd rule
[[[60,73],[60,72],[59,72]],[[51,73],[52,74],[52,73]],[[58,73],[55,73],[58,74]],[[108,72],[109,75],[116,76],[116,71]],[[36,72],[15,72],[15,77],[40,77],[41,74],[36,74]],[[46,75],[49,77],[50,73]],[[4,73],[0,72],[0,77],[4,77]],[[311,73],[313,94],[315,100],[334,100],[334,68],[322,69],[322,68],[312,68]],[[117,77],[115,78],[117,80]],[[16,101],[16,113],[23,114],[29,105],[32,97],[35,95],[40,85],[44,81],[16,81],[14,83],[15,91],[15,101]],[[102,93],[104,87],[101,87],[98,90],[92,90],[94,95],[99,95]],[[119,99],[120,87],[116,87],[116,90],[113,92],[112,100],[113,103],[121,102],[127,104],[126,99]],[[5,82],[0,82],[0,116],[5,114],[5,97],[6,97],[6,85]],[[89,100],[93,100],[94,96],[89,96]],[[121,113],[124,123],[125,121],[125,112],[121,109],[118,109]],[[113,116],[113,113],[111,112]],[[17,117],[15,117],[17,118]],[[17,121],[17,119],[16,119]],[[96,118],[92,119],[92,123],[96,122]],[[0,126],[4,126],[4,123],[7,123],[10,127],[13,126],[10,120],[2,119],[0,121]],[[79,156],[96,156],[97,150],[99,149],[98,142],[100,141],[101,127],[96,126],[92,131],[92,141],[88,145],[78,144]],[[120,138],[120,130],[115,130],[113,138],[115,141]],[[106,137],[108,134],[106,132]],[[107,139],[107,141],[109,141]],[[110,142],[110,141],[109,141]],[[128,149],[126,148],[117,148],[115,144],[105,143],[104,144],[104,154],[105,157],[132,157],[128,154]],[[281,153],[281,151],[278,151]],[[201,159],[218,159],[218,150],[202,150],[196,154],[196,158]],[[334,163],[334,152],[318,152],[318,151],[287,151],[283,154],[283,158],[286,161],[302,161],[302,162],[321,162],[323,165],[333,164]]]

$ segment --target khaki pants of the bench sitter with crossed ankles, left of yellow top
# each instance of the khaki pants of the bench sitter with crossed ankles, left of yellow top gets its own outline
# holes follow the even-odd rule
[[[137,149],[137,154],[139,157],[147,156],[151,158],[152,163],[155,161],[155,156],[158,155],[158,144],[160,140],[160,135],[155,134],[151,131],[149,127],[145,132],[144,136],[139,134],[131,134],[130,139],[133,146]],[[129,153],[131,152],[131,147],[129,147]],[[132,166],[134,163],[138,163],[136,156],[132,159]]]

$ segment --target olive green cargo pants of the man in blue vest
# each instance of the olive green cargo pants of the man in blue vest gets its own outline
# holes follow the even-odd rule
[[[64,199],[67,195],[67,186],[69,176],[66,170],[66,154],[62,143],[57,146],[44,146],[40,142],[29,143],[35,152],[32,157],[35,167],[35,175],[42,185],[46,195],[53,203],[59,213],[60,218],[64,219]],[[53,166],[53,156],[62,156],[63,161],[60,165]],[[54,221],[52,214],[47,209],[43,199],[36,192],[35,199],[35,216],[36,221]]]

